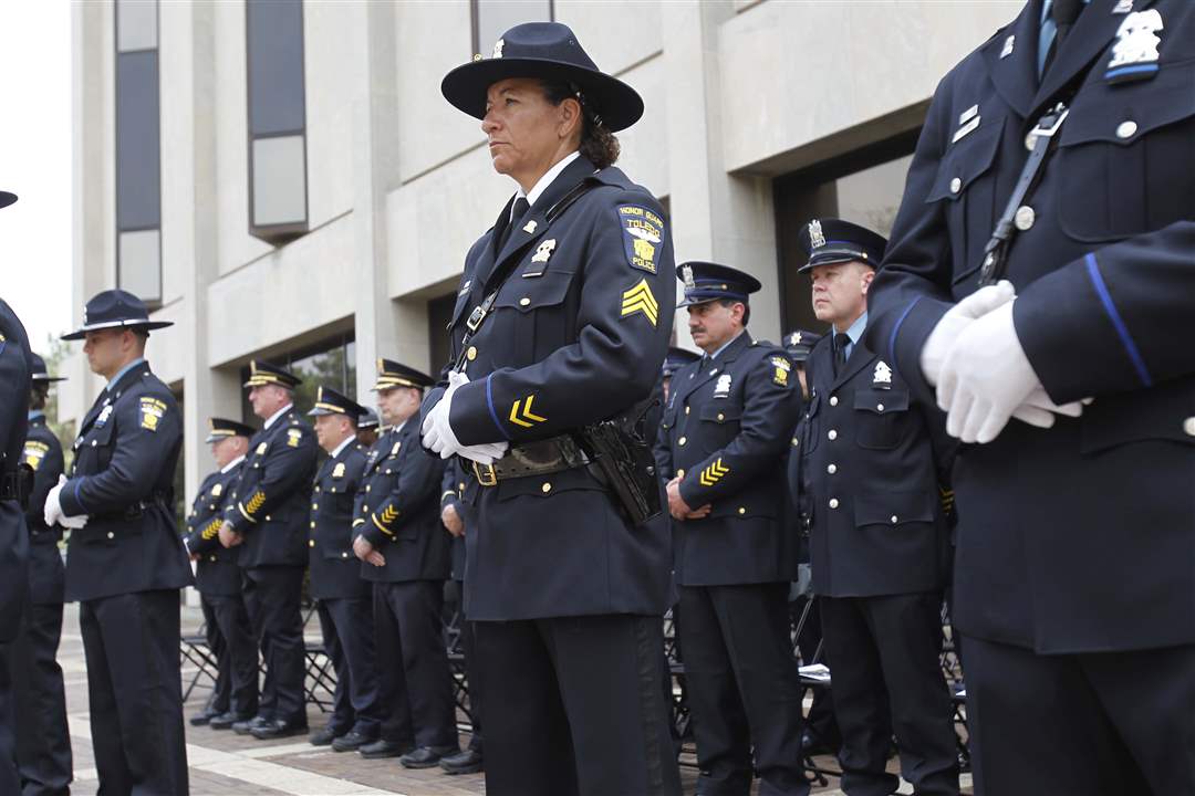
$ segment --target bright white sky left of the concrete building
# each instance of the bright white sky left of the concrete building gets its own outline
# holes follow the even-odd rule
[[[0,0],[0,297],[35,351],[71,326],[71,6]]]

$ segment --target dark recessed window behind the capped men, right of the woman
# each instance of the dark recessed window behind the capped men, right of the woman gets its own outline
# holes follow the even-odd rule
[[[823,161],[776,180],[776,229],[779,252],[782,332],[826,325],[811,306],[809,274],[797,273],[808,261],[798,235],[813,218],[850,221],[888,236],[905,192],[905,177],[920,130],[866,149]]]

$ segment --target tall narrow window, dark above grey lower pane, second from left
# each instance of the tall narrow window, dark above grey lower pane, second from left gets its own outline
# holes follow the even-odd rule
[[[307,106],[301,0],[245,4],[250,234],[307,232]]]

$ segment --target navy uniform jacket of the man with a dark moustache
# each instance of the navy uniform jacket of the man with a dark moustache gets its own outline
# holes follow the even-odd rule
[[[656,445],[663,481],[681,476],[705,519],[673,522],[680,586],[789,581],[796,576],[795,529],[786,526],[784,468],[799,390],[783,348],[743,332],[717,359],[673,375]]]

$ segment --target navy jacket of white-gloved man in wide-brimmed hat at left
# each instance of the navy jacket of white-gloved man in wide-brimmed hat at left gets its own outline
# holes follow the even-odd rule
[[[67,543],[66,599],[93,600],[191,584],[174,525],[174,464],[183,446],[178,403],[148,363],[96,399],[79,426],[71,480],[59,500],[87,525]]]

